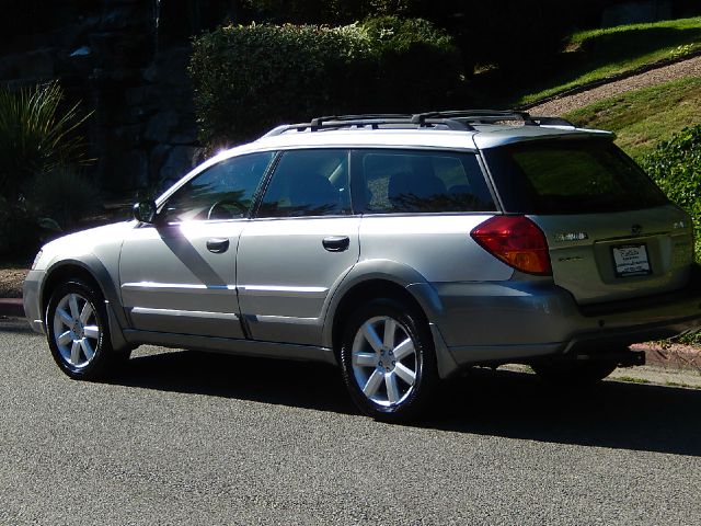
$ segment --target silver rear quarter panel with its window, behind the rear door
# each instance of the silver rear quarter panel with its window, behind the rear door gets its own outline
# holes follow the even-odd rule
[[[470,238],[496,211],[474,152],[366,149],[354,151],[352,164],[361,262],[401,262],[429,283],[513,275]]]

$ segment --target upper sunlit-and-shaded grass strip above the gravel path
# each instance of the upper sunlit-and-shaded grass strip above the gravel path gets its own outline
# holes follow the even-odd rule
[[[536,82],[512,95],[527,104],[587,82],[701,53],[701,16],[631,24],[572,35],[564,52]]]

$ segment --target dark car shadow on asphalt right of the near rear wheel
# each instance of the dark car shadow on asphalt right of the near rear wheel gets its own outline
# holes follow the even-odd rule
[[[448,402],[449,403],[446,403]],[[539,442],[701,456],[701,390],[607,380],[553,387],[476,369],[445,389],[425,425]]]

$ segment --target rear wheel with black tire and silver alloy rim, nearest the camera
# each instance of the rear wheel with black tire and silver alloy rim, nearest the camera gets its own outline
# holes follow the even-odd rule
[[[438,381],[426,322],[392,299],[376,299],[353,312],[340,358],[355,404],[384,422],[416,419],[429,404]]]

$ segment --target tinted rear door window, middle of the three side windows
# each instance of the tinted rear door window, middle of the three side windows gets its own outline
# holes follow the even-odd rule
[[[349,213],[348,152],[324,149],[286,151],[257,215],[299,217]]]

